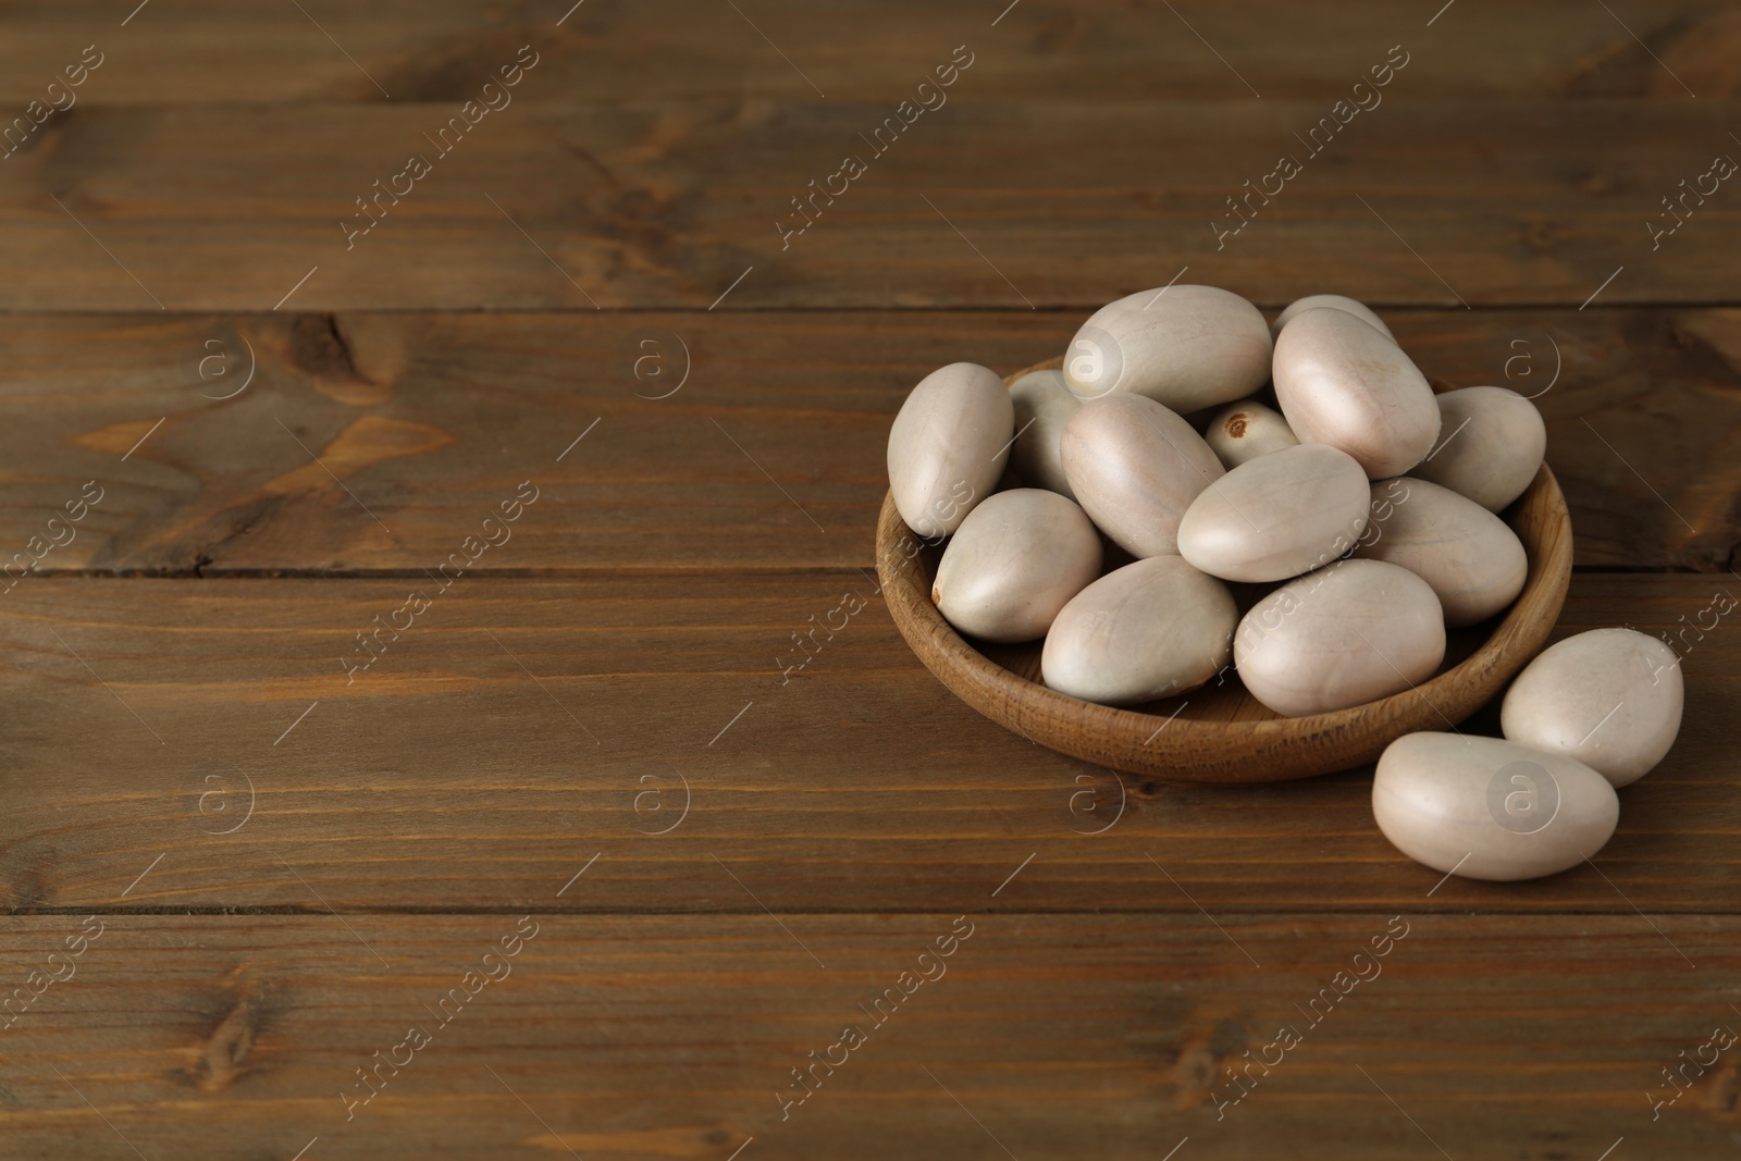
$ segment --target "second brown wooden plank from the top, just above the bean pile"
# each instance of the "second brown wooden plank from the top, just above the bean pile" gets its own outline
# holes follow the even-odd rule
[[[0,308],[1083,310],[1184,266],[1276,303],[1734,301],[1741,212],[1711,195],[1668,238],[1647,225],[1736,148],[1724,99],[1398,78],[1316,153],[1334,97],[963,103],[872,150],[890,101],[575,106],[541,84],[453,146],[440,103],[75,110],[7,162]],[[848,153],[865,172],[799,212]],[[428,172],[395,179],[413,155]],[[1301,172],[1222,237],[1281,155]]]

